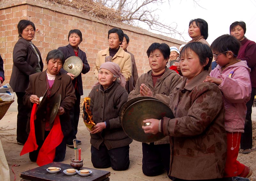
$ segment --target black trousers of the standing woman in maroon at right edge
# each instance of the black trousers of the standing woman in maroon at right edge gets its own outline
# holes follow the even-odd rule
[[[252,148],[252,104],[254,101],[256,88],[252,87],[251,99],[246,103],[246,117],[244,124],[244,133],[242,133],[240,147],[242,150]]]

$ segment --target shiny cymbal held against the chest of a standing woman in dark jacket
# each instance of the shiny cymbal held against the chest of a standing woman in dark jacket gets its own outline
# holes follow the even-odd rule
[[[63,69],[66,70],[68,73],[72,73],[77,77],[83,68],[82,60],[77,56],[71,56],[65,60],[63,64]]]

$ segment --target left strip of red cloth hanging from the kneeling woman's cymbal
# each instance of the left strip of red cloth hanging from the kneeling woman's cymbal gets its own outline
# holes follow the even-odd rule
[[[34,120],[36,119],[35,113],[36,113],[37,108],[38,108],[38,105],[34,104],[32,111],[31,111],[31,117],[30,117],[30,133],[28,135],[26,143],[24,144],[24,146],[19,154],[20,156],[24,155],[28,152],[37,150],[37,148],[38,148],[38,145],[36,144],[36,139],[35,139],[35,124],[34,124]]]

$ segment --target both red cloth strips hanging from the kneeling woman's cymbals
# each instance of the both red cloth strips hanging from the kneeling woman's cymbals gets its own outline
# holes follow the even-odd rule
[[[34,121],[36,119],[35,113],[38,105],[34,104],[31,112],[30,118],[30,133],[27,138],[26,143],[23,146],[23,149],[20,152],[20,156],[24,155],[28,152],[32,152],[37,150],[38,145],[36,144],[35,138],[35,124]],[[55,158],[55,149],[63,140],[63,133],[60,126],[59,115],[57,115],[53,122],[53,127],[50,130],[49,135],[46,137],[43,146],[39,150],[36,163],[38,166],[43,166],[53,162]]]

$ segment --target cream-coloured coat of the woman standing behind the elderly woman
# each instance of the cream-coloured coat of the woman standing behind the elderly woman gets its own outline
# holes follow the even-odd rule
[[[97,54],[95,66],[93,68],[94,75],[98,79],[99,68],[105,62],[105,57],[109,56],[109,47],[101,50]],[[132,75],[132,60],[131,55],[119,48],[118,52],[112,58],[113,62],[120,66],[120,71],[124,75],[125,80],[128,81]]]

